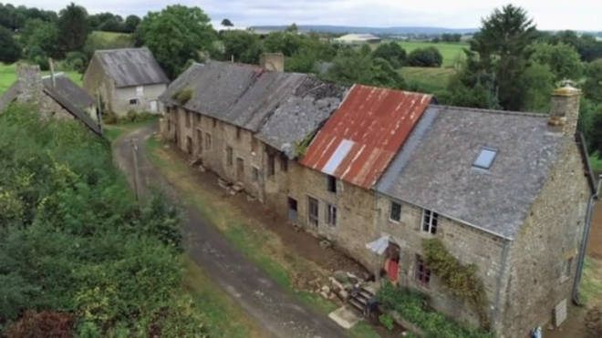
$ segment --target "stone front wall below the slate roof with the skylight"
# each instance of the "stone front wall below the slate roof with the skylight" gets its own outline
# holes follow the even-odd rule
[[[469,304],[455,299],[444,289],[436,274],[431,275],[431,282],[424,285],[416,277],[417,255],[424,256],[422,240],[437,238],[445,248],[462,264],[475,264],[477,276],[483,281],[490,306],[487,311],[495,309],[496,292],[500,286],[502,273],[503,248],[506,242],[502,238],[477,230],[443,215],[438,216],[435,234],[422,230],[423,209],[415,205],[394,200],[401,205],[400,220],[390,220],[391,201],[387,196],[379,194],[377,201],[378,233],[390,235],[400,246],[400,285],[418,290],[431,297],[431,305],[440,312],[455,319],[478,325],[478,316]],[[379,266],[384,266],[384,257],[379,259]]]

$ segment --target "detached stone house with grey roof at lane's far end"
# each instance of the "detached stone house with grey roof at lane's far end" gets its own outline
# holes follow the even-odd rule
[[[97,50],[84,87],[98,97],[103,112],[124,117],[130,111],[158,113],[158,97],[170,80],[148,48]]]

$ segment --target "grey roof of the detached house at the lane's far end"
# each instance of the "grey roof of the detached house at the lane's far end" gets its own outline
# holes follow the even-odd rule
[[[116,87],[170,83],[148,48],[97,50],[94,55]]]

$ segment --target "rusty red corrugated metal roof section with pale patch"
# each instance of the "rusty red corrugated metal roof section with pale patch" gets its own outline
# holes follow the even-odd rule
[[[369,189],[430,102],[431,95],[356,85],[301,164]]]

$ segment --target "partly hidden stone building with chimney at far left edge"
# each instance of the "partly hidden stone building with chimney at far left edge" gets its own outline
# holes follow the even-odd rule
[[[16,83],[0,97],[0,113],[12,102],[24,102],[39,107],[47,118],[75,118],[102,134],[94,99],[82,87],[62,74],[42,77],[38,66],[19,65],[16,71]]]

